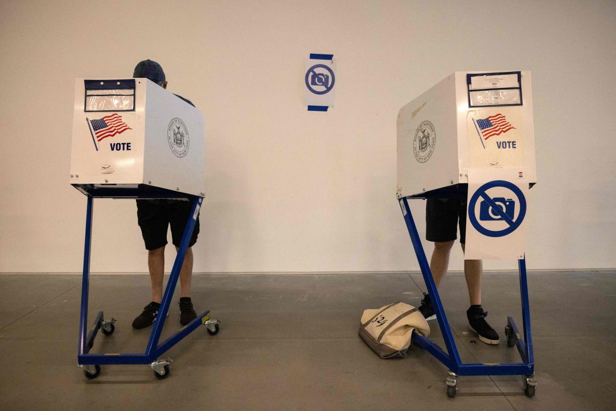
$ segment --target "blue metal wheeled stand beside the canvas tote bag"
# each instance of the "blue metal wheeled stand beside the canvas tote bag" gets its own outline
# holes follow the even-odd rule
[[[526,261],[524,259],[518,260],[519,266],[519,279],[520,279],[520,294],[522,298],[522,331],[524,332],[524,338],[518,332],[516,323],[512,317],[508,317],[507,325],[505,327],[505,335],[507,338],[507,345],[509,347],[516,346],[522,357],[522,362],[514,364],[463,364],[456,348],[456,343],[453,340],[452,331],[447,322],[447,316],[443,309],[443,304],[440,301],[439,291],[436,289],[434,279],[432,279],[432,273],[430,272],[430,266],[428,259],[426,259],[426,253],[424,253],[423,246],[421,245],[421,239],[415,226],[415,221],[411,214],[411,210],[408,206],[409,198],[466,198],[466,192],[468,190],[468,184],[458,184],[447,189],[432,190],[431,192],[425,192],[417,196],[409,196],[399,198],[400,208],[407,223],[408,234],[411,237],[413,248],[415,248],[415,254],[419,267],[421,268],[421,274],[423,275],[426,288],[430,295],[436,317],[439,322],[440,332],[442,333],[445,341],[445,347],[447,352],[443,351],[437,344],[428,340],[428,338],[419,335],[413,331],[413,342],[426,349],[432,356],[442,362],[448,368],[447,375],[447,395],[455,397],[456,385],[459,375],[521,375],[522,383],[524,385],[524,393],[526,396],[532,397],[535,395],[535,386],[537,381],[535,380],[535,359],[533,357],[533,343],[532,334],[530,332],[530,307],[529,307],[529,290],[526,281]]]

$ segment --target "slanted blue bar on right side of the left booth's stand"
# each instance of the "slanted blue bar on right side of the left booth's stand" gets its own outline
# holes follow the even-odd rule
[[[160,309],[158,309],[158,315],[156,316],[156,320],[154,322],[154,329],[152,330],[152,335],[150,335],[148,346],[145,349],[145,354],[147,356],[150,356],[153,352],[156,353],[156,346],[158,346],[158,340],[160,340],[160,334],[163,331],[164,319],[169,311],[169,305],[171,304],[171,299],[173,298],[173,292],[176,289],[177,279],[180,277],[180,270],[182,269],[182,264],[184,263],[188,243],[190,243],[190,237],[192,237],[193,229],[195,229],[195,224],[197,224],[201,201],[203,201],[203,197],[195,197],[195,200],[193,200],[190,218],[188,218],[186,228],[184,229],[182,242],[180,242],[179,250],[177,250],[176,261],[173,263],[171,275],[169,276],[167,287],[164,290],[163,301],[161,301]]]

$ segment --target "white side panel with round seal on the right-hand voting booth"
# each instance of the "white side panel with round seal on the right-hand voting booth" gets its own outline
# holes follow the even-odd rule
[[[455,78],[448,76],[400,109],[397,119],[399,197],[458,182]]]

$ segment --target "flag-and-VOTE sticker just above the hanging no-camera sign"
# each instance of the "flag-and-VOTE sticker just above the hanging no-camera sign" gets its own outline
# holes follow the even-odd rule
[[[466,123],[469,167],[524,167],[524,130],[519,110],[470,110]]]

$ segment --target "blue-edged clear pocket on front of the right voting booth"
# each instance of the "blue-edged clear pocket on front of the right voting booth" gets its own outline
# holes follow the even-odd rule
[[[474,73],[466,75],[469,107],[522,105],[522,73]]]

